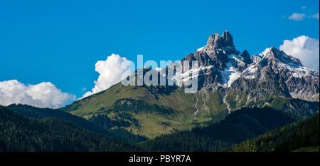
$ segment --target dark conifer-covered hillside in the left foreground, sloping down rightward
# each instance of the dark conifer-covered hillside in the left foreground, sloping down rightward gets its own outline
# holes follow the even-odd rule
[[[134,145],[57,118],[26,118],[0,106],[0,151],[137,151]]]

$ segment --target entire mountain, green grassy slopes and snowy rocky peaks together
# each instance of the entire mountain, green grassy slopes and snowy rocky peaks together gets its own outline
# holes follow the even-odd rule
[[[182,61],[197,61],[198,68],[186,66],[186,72],[198,78],[196,93],[184,93],[186,87],[179,84],[117,83],[60,110],[86,119],[92,115],[122,118],[127,125],[113,129],[148,138],[217,123],[240,108],[271,107],[294,120],[319,112],[319,72],[277,48],[250,57],[247,51],[237,51],[233,36],[225,31],[209,36],[206,46]],[[139,70],[156,70],[160,76],[166,68]],[[182,80],[190,77],[186,74]]]

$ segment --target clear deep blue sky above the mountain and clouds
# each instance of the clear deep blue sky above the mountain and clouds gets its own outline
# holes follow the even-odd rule
[[[288,19],[294,13],[306,16]],[[0,81],[48,81],[79,98],[95,85],[95,63],[111,53],[174,61],[228,30],[252,55],[302,35],[318,39],[319,19],[308,18],[316,13],[318,0],[0,0]]]

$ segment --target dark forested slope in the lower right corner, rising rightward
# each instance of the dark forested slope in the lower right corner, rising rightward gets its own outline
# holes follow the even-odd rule
[[[235,145],[235,152],[290,152],[302,147],[318,147],[319,113],[311,118],[299,120],[277,128],[257,138]]]

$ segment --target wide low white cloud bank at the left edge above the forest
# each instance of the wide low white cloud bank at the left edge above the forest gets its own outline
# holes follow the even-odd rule
[[[21,103],[40,108],[60,108],[75,100],[75,95],[63,93],[50,82],[24,85],[16,80],[0,81],[0,104]]]

